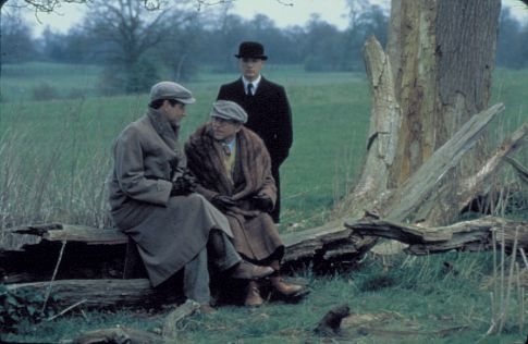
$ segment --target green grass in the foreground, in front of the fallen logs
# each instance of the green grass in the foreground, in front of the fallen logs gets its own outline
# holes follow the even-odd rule
[[[179,324],[177,343],[524,343],[516,325],[517,305],[502,335],[484,336],[490,327],[491,255],[450,253],[430,257],[369,254],[357,270],[317,277],[298,275],[311,293],[298,304],[270,303],[259,308],[223,306]],[[445,269],[449,261],[452,269]],[[417,273],[418,272],[418,273]],[[380,281],[385,283],[380,285]],[[463,282],[462,282],[463,281]],[[312,330],[332,308],[348,305],[363,321],[342,324],[343,337],[324,339]],[[164,316],[120,309],[78,310],[51,322],[22,324],[19,340],[59,342],[118,324],[159,332]],[[370,319],[370,320],[369,320]],[[445,331],[442,334],[441,331]]]

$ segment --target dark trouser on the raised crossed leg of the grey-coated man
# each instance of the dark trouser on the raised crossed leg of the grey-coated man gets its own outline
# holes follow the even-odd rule
[[[228,270],[242,260],[230,238],[222,231],[212,230],[207,245],[210,262],[220,271]]]

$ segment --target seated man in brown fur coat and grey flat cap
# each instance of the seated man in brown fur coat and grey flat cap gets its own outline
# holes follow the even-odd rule
[[[303,287],[285,283],[279,274],[284,244],[269,214],[277,188],[268,150],[257,134],[243,126],[247,113],[237,103],[218,100],[211,118],[185,145],[196,192],[226,216],[244,259],[274,269],[271,287],[282,296],[298,295]],[[248,280],[245,305],[261,305],[260,282]]]

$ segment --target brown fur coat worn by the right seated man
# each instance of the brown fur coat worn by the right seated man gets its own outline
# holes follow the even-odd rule
[[[223,164],[223,150],[211,135],[211,123],[200,126],[185,144],[188,169],[195,174],[197,192],[211,200],[231,196],[236,206],[224,214],[231,225],[236,250],[254,262],[281,259],[284,251],[277,225],[270,214],[258,209],[253,196],[263,193],[274,204],[277,188],[271,161],[262,139],[242,127],[236,135],[236,156],[230,177]]]

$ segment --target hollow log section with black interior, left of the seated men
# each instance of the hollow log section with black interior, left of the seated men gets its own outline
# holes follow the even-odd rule
[[[114,229],[45,223],[1,233],[3,283],[50,280],[58,263],[57,279],[115,279],[123,274],[127,237]]]

